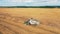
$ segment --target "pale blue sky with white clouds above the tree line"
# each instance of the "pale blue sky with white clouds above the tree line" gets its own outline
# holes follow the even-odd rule
[[[0,0],[0,6],[60,6],[60,0]]]

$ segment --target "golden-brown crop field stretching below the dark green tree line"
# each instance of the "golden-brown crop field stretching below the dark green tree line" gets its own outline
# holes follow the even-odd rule
[[[25,25],[29,18],[40,24]],[[0,34],[60,34],[60,8],[0,8]]]

